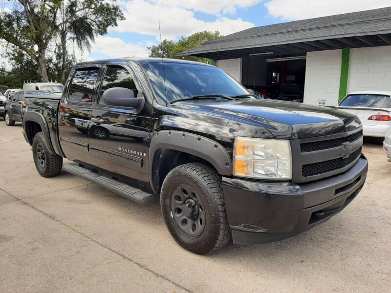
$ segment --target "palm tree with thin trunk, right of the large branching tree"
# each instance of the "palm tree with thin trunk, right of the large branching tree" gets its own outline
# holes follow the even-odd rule
[[[59,16],[57,33],[61,42],[61,81],[64,83],[67,42],[74,41],[80,50],[89,51],[97,35],[106,35],[110,26],[117,26],[117,21],[125,18],[118,5],[106,0],[64,0]]]

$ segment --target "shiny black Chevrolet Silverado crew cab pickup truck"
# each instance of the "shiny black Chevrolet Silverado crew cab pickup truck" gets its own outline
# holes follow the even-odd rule
[[[24,97],[22,122],[42,176],[63,168],[139,204],[160,198],[171,235],[199,254],[325,222],[368,170],[356,116],[259,99],[203,63],[79,63],[61,97]]]

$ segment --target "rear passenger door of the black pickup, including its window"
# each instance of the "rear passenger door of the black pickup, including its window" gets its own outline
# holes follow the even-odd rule
[[[59,136],[68,160],[91,163],[88,151],[89,114],[100,73],[98,67],[77,68],[63,94],[59,109]]]

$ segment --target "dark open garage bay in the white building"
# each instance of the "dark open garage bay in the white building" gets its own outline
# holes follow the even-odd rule
[[[250,56],[242,61],[241,83],[266,99],[303,102],[305,56]]]

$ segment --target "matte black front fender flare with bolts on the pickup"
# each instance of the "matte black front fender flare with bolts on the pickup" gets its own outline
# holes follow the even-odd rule
[[[148,172],[151,182],[154,156],[160,148],[169,148],[194,155],[212,164],[219,174],[232,175],[231,157],[224,146],[201,135],[177,130],[161,130],[154,133],[150,144]]]

